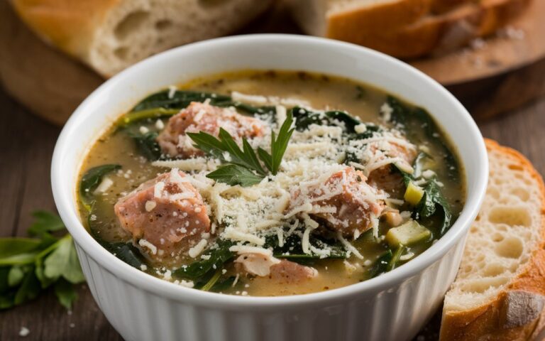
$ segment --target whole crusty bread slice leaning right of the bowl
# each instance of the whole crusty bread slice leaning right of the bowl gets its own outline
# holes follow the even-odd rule
[[[445,297],[441,340],[543,340],[544,183],[517,151],[486,145],[488,190]]]

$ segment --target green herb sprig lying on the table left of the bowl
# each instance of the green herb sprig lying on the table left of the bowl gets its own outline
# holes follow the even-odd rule
[[[50,287],[70,309],[77,299],[74,284],[85,280],[72,237],[51,234],[65,228],[57,215],[37,211],[33,216],[28,234],[35,238],[0,238],[0,309],[30,301]]]

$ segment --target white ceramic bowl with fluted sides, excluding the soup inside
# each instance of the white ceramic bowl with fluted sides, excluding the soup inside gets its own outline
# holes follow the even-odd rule
[[[87,149],[145,95],[229,70],[324,72],[375,85],[431,112],[466,169],[460,217],[432,247],[394,271],[322,293],[258,298],[176,286],[123,263],[84,229],[75,202]],[[51,172],[55,203],[74,237],[94,299],[126,340],[409,340],[438,308],[456,276],[470,223],[485,194],[483,138],[466,109],[441,85],[387,55],[348,43],[286,35],[236,36],[155,55],[111,78],[62,130]]]

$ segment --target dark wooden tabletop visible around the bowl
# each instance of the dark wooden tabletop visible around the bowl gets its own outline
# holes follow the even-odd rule
[[[23,236],[33,210],[55,210],[50,161],[60,128],[29,114],[1,87],[0,108],[0,237]],[[545,97],[508,115],[478,123],[484,136],[522,151],[545,174]],[[431,323],[426,335],[433,335],[437,325]],[[20,337],[21,327],[28,328],[30,334]],[[0,311],[0,340],[19,339],[107,341],[121,337],[83,285],[72,312],[62,308],[52,292]]]

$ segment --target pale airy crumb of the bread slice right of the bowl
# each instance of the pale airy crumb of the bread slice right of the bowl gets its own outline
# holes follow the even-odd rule
[[[495,297],[543,243],[541,179],[527,160],[498,147],[488,143],[488,190],[445,298],[446,310],[475,308]]]

